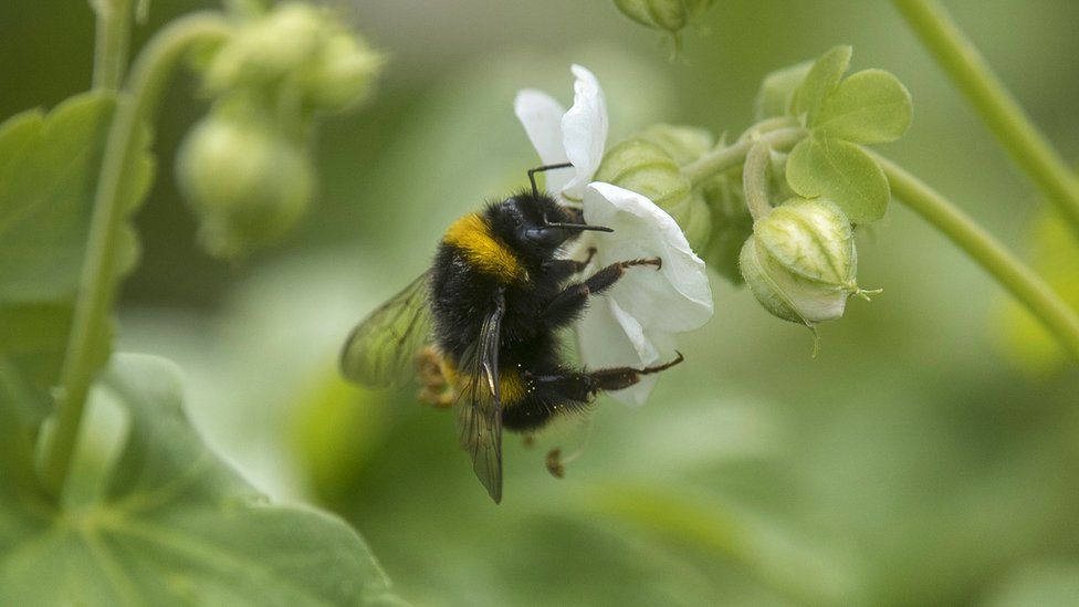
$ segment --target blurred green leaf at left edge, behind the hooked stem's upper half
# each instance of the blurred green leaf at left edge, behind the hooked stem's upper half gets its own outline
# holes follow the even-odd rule
[[[49,389],[59,380],[114,109],[111,96],[90,93],[48,116],[34,109],[0,125],[0,394],[30,425],[51,408]],[[139,149],[149,139],[143,128]],[[137,208],[153,176],[154,159],[144,151],[121,184],[124,212]],[[138,258],[130,226],[117,249],[118,280]],[[101,364],[108,342],[105,335],[98,342]]]

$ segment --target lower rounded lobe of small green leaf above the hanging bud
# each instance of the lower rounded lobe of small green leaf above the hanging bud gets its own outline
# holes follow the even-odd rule
[[[891,198],[877,160],[838,139],[810,137],[795,146],[787,158],[787,182],[800,196],[839,205],[851,223],[880,219]]]

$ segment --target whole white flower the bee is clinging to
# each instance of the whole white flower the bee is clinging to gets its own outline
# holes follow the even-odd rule
[[[525,90],[514,112],[545,165],[573,163],[574,168],[547,172],[547,190],[563,201],[583,203],[585,221],[614,233],[583,234],[569,254],[596,248],[585,270],[611,263],[660,258],[662,268],[630,268],[603,296],[593,297],[577,326],[586,367],[645,368],[674,358],[674,334],[703,325],[712,316],[712,292],[704,262],[690,248],[678,223],[647,197],[591,182],[604,158],[607,107],[599,82],[580,65],[573,66],[574,105],[568,111],[551,95]],[[627,405],[641,405],[658,376],[643,376],[612,394]]]

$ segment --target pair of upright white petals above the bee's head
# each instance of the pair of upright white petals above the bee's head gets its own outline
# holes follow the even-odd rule
[[[599,81],[574,65],[574,104],[567,112],[551,95],[526,88],[517,93],[513,109],[545,165],[573,163],[573,169],[547,172],[547,191],[565,201],[580,202],[607,143],[607,104]]]

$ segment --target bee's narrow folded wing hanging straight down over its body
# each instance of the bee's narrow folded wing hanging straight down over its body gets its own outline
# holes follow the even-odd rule
[[[494,503],[502,501],[502,394],[499,389],[499,342],[505,301],[501,291],[494,310],[483,318],[480,335],[462,357],[468,380],[454,408],[461,448]]]

